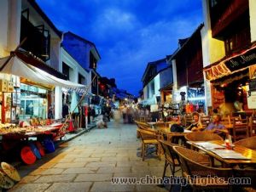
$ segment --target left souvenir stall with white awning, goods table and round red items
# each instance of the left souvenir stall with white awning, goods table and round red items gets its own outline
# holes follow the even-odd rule
[[[38,67],[39,65],[41,66]],[[54,71],[56,76],[49,71]],[[62,138],[66,132],[64,124],[46,119],[49,116],[49,104],[55,102],[52,91],[55,87],[84,86],[61,79],[60,72],[31,54],[19,51],[0,59],[0,74],[0,147],[1,153],[4,153],[0,156],[19,156],[26,164],[32,164],[44,155],[44,150],[53,152],[54,140]],[[30,138],[37,139],[30,141]]]

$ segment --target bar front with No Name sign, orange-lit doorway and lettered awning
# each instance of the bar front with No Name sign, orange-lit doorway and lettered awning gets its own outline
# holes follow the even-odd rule
[[[212,109],[230,116],[250,115],[256,108],[251,104],[251,93],[255,79],[256,46],[228,59],[207,66],[204,71],[211,82]],[[251,87],[250,87],[251,85]]]

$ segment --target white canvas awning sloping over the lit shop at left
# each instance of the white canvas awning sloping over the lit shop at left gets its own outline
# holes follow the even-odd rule
[[[8,63],[4,65],[7,61]],[[2,73],[20,76],[33,82],[39,82],[46,85],[60,86],[61,88],[85,88],[85,85],[63,80],[50,75],[35,66],[29,65],[17,55],[11,56],[11,59],[9,59],[9,57],[0,59],[0,69],[2,69],[2,71],[0,71]]]

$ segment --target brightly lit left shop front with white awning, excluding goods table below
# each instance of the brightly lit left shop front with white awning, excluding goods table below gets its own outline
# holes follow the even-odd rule
[[[56,90],[61,94],[59,88],[85,87],[65,80],[59,71],[30,54],[19,52],[0,59],[0,69],[2,123],[54,118],[55,106],[62,104],[62,99],[55,99]]]

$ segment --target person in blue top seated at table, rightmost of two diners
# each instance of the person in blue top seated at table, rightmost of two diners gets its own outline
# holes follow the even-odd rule
[[[217,133],[221,136],[226,136],[229,134],[229,131],[224,127],[223,124],[220,123],[221,116],[218,114],[215,114],[212,116],[212,123],[208,125],[208,127],[205,129],[206,131]]]

